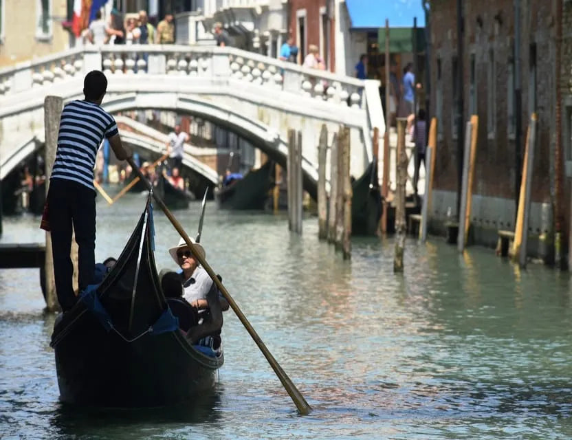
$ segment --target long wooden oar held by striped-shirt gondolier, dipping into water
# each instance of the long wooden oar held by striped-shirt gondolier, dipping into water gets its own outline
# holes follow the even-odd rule
[[[144,177],[143,173],[141,173],[141,170],[139,168],[137,168],[137,166],[135,166],[135,162],[133,162],[133,158],[130,157],[129,159],[127,159],[127,162],[129,162],[129,164],[131,164],[131,166],[133,166],[133,170],[135,170],[135,173],[137,173],[137,175],[139,175],[141,180],[144,181],[147,188],[149,190],[151,190],[152,189],[151,183],[149,183],[149,181],[146,179],[146,177]],[[163,210],[163,212],[165,213],[165,215],[167,216],[169,221],[173,224],[173,226],[175,227],[177,232],[179,232],[179,235],[184,239],[186,245],[190,249],[190,252],[192,252],[192,255],[195,257],[195,259],[197,259],[197,261],[199,261],[199,263],[201,263],[201,265],[204,267],[204,270],[206,270],[206,272],[208,273],[210,278],[212,278],[213,283],[215,285],[217,285],[217,287],[219,288],[219,291],[221,292],[221,294],[223,294],[225,300],[227,300],[227,302],[230,305],[230,307],[232,308],[232,310],[234,310],[234,313],[236,314],[236,316],[238,316],[239,320],[242,322],[242,325],[245,327],[245,329],[250,334],[250,337],[252,338],[252,340],[254,340],[254,342],[256,342],[256,345],[259,346],[259,349],[262,351],[264,357],[266,358],[266,360],[268,361],[270,366],[272,366],[274,373],[276,373],[276,375],[278,376],[278,379],[280,379],[280,382],[282,382],[284,388],[286,389],[286,391],[288,392],[288,394],[290,395],[290,397],[294,401],[294,404],[296,404],[296,408],[298,408],[298,412],[300,412],[301,415],[309,414],[309,412],[312,409],[311,406],[309,406],[307,401],[304,399],[304,396],[302,395],[302,393],[300,393],[300,391],[298,391],[298,388],[296,388],[294,383],[292,383],[292,380],[290,380],[290,378],[285,373],[285,371],[282,369],[280,364],[278,364],[276,359],[274,359],[274,356],[272,355],[272,353],[270,353],[270,351],[267,349],[267,347],[265,346],[264,342],[262,342],[258,333],[256,333],[256,330],[254,330],[254,327],[252,327],[250,322],[248,322],[248,319],[246,319],[246,316],[244,316],[244,314],[242,313],[239,306],[234,302],[234,299],[232,299],[232,296],[230,296],[226,287],[224,287],[223,283],[221,283],[221,281],[219,281],[219,278],[217,278],[217,274],[215,274],[214,271],[212,270],[212,268],[210,267],[210,265],[208,265],[208,263],[206,262],[206,259],[203,259],[203,257],[201,256],[201,254],[199,252],[195,252],[195,245],[192,244],[192,242],[188,238],[188,235],[184,231],[184,229],[181,226],[181,224],[179,223],[179,221],[177,221],[177,219],[175,219],[175,216],[173,216],[173,214],[171,214],[170,210],[168,210],[168,208],[165,206],[165,203],[163,203],[161,198],[157,196],[155,191],[153,191],[153,198],[155,199],[155,201],[157,202],[159,207]]]

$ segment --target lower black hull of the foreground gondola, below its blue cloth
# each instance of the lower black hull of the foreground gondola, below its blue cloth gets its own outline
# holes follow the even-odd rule
[[[223,362],[194,349],[178,331],[125,342],[86,309],[67,325],[69,334],[55,352],[61,400],[70,404],[133,408],[193,401],[214,386]]]

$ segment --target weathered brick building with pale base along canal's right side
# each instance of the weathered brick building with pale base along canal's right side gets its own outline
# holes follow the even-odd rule
[[[555,148],[557,1],[463,1],[460,38],[457,3],[456,0],[430,2],[433,85],[430,113],[439,121],[433,187],[438,197],[434,199],[434,215],[443,217],[450,208],[456,211],[459,164],[462,164],[459,159],[464,145],[459,140],[457,124],[463,124],[464,129],[470,115],[478,115],[471,219],[474,236],[477,242],[492,245],[497,230],[514,230],[527,127],[531,114],[537,113],[529,247],[534,256],[553,261],[558,248],[555,214],[559,217],[561,243],[567,243],[569,235],[569,221],[564,221],[562,214],[564,208],[568,212],[569,206],[565,205],[569,201],[564,202],[562,191],[557,200],[555,192],[560,178],[557,170],[564,169],[564,158]],[[569,9],[569,2],[564,3],[568,3]],[[515,4],[520,10],[520,35],[515,32]],[[518,62],[515,52],[520,52]],[[520,109],[514,94],[519,76]],[[463,100],[461,116],[459,98]],[[516,132],[517,118],[522,127],[520,135]]]

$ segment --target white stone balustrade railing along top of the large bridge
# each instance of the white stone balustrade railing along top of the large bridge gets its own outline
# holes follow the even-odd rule
[[[235,78],[340,106],[364,108],[364,81],[235,49],[186,45],[103,45],[69,50],[0,70],[0,97],[49,87],[91,69],[114,75]]]

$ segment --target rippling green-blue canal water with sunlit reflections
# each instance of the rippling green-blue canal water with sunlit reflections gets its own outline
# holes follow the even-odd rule
[[[96,257],[118,256],[144,206],[98,201]],[[178,237],[155,211],[159,269]],[[199,202],[175,215],[196,234]],[[3,242],[43,240],[36,217],[4,219]],[[37,270],[0,270],[2,439],[569,439],[572,309],[568,273],[525,271],[484,248],[444,239],[353,239],[342,261],[285,215],[207,206],[210,265],[314,408],[300,417],[232,311],[225,364],[200,404],[151,410],[76,408],[58,401],[54,316]],[[109,364],[110,369],[120,366]]]

